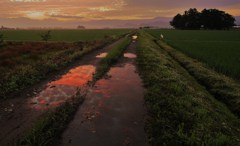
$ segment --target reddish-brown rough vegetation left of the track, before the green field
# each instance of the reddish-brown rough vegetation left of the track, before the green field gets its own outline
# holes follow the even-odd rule
[[[22,91],[113,40],[116,38],[76,43],[8,43],[0,52],[0,98]]]

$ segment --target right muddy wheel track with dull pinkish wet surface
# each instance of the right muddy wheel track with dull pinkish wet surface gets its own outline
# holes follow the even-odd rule
[[[144,88],[136,71],[132,43],[107,77],[90,89],[61,145],[147,145],[144,132]]]

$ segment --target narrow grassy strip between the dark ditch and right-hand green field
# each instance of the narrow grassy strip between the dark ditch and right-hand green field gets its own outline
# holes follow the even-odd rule
[[[240,85],[233,79],[219,74],[206,65],[187,57],[163,41],[157,41],[177,62],[194,76],[216,99],[225,103],[236,115],[240,116]]]

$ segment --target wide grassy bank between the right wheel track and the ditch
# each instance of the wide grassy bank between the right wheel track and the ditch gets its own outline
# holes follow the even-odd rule
[[[239,145],[238,118],[159,49],[140,33],[137,61],[147,89],[150,145]]]

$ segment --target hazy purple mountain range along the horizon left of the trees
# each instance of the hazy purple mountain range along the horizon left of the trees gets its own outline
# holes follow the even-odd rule
[[[55,19],[32,20],[28,18],[0,18],[0,26],[18,28],[139,28],[144,26],[168,28],[171,18],[157,17],[153,19],[139,20],[70,20],[59,21]]]

